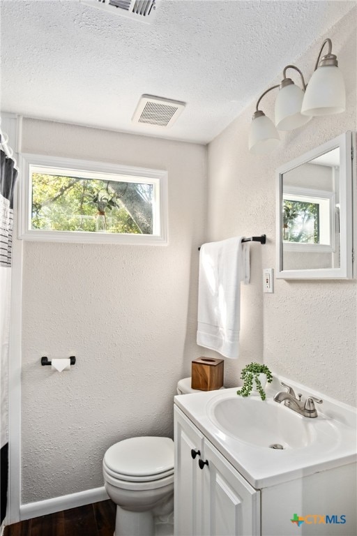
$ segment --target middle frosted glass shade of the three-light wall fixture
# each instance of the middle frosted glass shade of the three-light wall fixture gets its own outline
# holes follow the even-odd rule
[[[280,131],[292,131],[305,125],[312,117],[301,115],[304,92],[295,84],[279,90],[275,101],[275,126]]]

